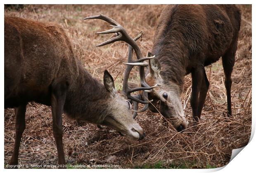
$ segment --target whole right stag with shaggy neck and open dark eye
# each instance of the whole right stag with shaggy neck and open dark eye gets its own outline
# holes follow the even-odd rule
[[[149,72],[149,85],[161,84],[149,93],[149,109],[166,118],[184,117],[180,96],[184,76],[191,73],[190,105],[197,123],[209,89],[204,67],[222,57],[231,111],[231,73],[235,63],[241,15],[235,5],[167,5],[156,25]],[[149,53],[149,56],[152,56]],[[175,123],[174,123],[175,125]],[[184,122],[179,131],[187,128]]]

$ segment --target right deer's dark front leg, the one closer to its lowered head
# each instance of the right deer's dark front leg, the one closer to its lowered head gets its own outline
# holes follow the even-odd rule
[[[202,66],[192,69],[192,93],[190,98],[190,105],[192,107],[193,118],[195,122],[199,121],[198,116],[198,103],[199,103],[199,91],[203,79],[204,69]]]

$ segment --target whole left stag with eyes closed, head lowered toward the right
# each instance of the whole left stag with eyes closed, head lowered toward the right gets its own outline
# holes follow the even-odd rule
[[[65,164],[63,112],[77,121],[109,126],[132,140],[145,137],[132,117],[129,95],[117,93],[107,70],[104,84],[85,70],[62,27],[18,17],[5,17],[4,21],[5,108],[15,108],[16,114],[14,150],[9,165],[18,164],[26,105],[31,101],[51,106],[59,165]],[[127,93],[127,84],[124,85]],[[140,87],[133,91],[152,88]]]

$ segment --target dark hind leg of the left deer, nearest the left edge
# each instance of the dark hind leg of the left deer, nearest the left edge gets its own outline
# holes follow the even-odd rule
[[[15,108],[15,142],[12,152],[12,158],[9,162],[9,165],[18,165],[18,156],[19,156],[19,146],[21,143],[22,134],[26,128],[25,123],[25,114],[26,114],[26,104],[20,105],[18,108]],[[17,168],[17,167],[14,167]]]

